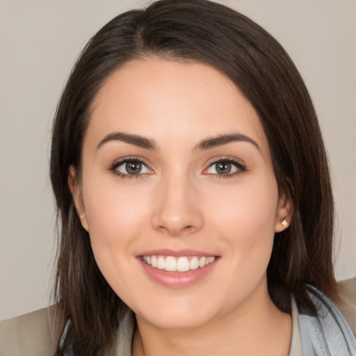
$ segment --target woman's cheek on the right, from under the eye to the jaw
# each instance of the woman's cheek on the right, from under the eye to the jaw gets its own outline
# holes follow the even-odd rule
[[[244,185],[234,194],[230,191],[225,204],[220,200],[215,210],[215,226],[228,246],[225,261],[231,271],[228,282],[221,284],[221,293],[232,303],[249,296],[266,277],[278,202],[277,184],[270,183]]]

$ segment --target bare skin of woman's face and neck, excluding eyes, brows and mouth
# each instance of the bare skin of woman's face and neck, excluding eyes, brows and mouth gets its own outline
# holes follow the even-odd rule
[[[117,132],[154,140],[156,149],[120,140],[98,148]],[[196,149],[236,133],[257,145]],[[118,175],[124,164],[111,169],[127,157],[145,163],[142,175]],[[226,76],[160,58],[127,63],[97,95],[82,158],[81,181],[70,168],[69,185],[100,270],[136,313],[133,355],[288,355],[291,316],[270,300],[266,269],[290,203],[257,113]],[[245,169],[232,165],[222,177],[214,164],[222,159]],[[192,286],[168,288],[138,262],[162,248],[218,259]]]

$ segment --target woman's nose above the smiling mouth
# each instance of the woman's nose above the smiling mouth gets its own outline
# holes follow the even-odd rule
[[[170,236],[185,236],[202,229],[200,197],[188,179],[161,182],[154,205],[154,229]]]

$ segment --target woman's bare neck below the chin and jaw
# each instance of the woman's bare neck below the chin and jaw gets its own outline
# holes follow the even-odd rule
[[[227,315],[186,329],[162,329],[137,317],[133,356],[287,356],[291,345],[291,316],[270,300],[250,296]]]

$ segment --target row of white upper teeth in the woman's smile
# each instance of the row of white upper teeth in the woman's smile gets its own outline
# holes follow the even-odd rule
[[[142,260],[145,264],[149,264],[160,270],[168,272],[187,272],[188,270],[196,270],[211,264],[215,261],[215,257],[172,257],[172,256],[143,256]]]

